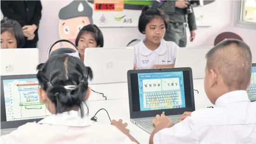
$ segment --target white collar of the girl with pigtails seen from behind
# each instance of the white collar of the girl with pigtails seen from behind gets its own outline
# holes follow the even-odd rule
[[[38,124],[84,127],[94,123],[86,115],[84,116],[84,118],[81,118],[79,113],[80,111],[67,111],[59,114],[53,114],[42,119],[38,122]]]

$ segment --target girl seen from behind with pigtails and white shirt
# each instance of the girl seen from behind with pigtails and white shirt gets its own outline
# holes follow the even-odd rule
[[[81,60],[58,55],[39,64],[40,101],[52,113],[1,137],[1,144],[136,144],[122,120],[103,125],[87,116],[92,70]],[[84,112],[85,111],[85,112]]]

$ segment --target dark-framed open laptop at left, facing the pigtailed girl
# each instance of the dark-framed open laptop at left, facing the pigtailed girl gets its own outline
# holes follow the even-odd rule
[[[1,136],[50,115],[40,102],[36,75],[1,76]]]

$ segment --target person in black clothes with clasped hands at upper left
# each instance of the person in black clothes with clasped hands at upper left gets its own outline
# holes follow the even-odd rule
[[[1,0],[1,11],[8,19],[20,23],[26,37],[23,48],[36,48],[38,26],[41,19],[40,0]]]

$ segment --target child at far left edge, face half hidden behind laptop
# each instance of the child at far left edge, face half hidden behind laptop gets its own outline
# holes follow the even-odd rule
[[[1,20],[1,48],[21,48],[25,37],[18,21],[5,17]]]

